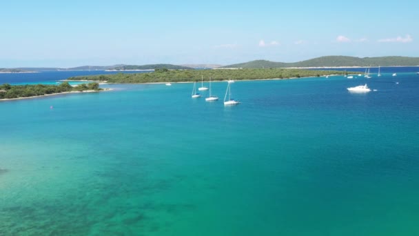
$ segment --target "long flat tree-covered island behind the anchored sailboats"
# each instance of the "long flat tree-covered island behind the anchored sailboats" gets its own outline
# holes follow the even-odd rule
[[[330,70],[303,70],[303,69],[220,69],[220,70],[168,70],[167,68],[156,69],[154,72],[114,75],[88,75],[70,77],[72,81],[107,81],[108,83],[163,83],[163,82],[187,82],[205,80],[254,80],[254,79],[289,79],[300,77],[320,77],[325,75],[343,75],[343,71]],[[358,72],[352,72],[358,74]]]

